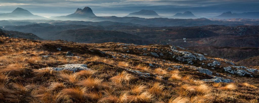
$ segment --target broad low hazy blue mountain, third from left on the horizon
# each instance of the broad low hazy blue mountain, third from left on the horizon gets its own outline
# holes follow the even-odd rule
[[[163,18],[164,16],[158,15],[153,10],[141,10],[139,12],[130,13],[127,17],[140,17],[140,18]]]

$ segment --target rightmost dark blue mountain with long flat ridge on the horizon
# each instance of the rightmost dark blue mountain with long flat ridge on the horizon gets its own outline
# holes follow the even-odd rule
[[[231,18],[245,18],[245,19],[259,19],[259,12],[245,12],[245,13],[232,13],[225,12],[219,16],[214,16],[212,18],[219,19],[231,19]]]

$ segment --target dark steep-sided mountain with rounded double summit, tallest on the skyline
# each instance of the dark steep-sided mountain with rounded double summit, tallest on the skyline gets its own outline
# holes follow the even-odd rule
[[[66,16],[57,16],[52,17],[52,19],[62,19],[62,20],[78,20],[85,19],[90,17],[96,17],[90,7],[84,7],[83,9],[77,8],[76,12]]]

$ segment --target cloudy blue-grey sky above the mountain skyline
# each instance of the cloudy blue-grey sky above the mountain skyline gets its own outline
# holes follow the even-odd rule
[[[140,10],[154,10],[161,16],[191,11],[199,17],[217,16],[223,12],[259,12],[259,0],[0,0],[0,13],[17,7],[44,17],[74,13],[90,7],[97,16],[123,17]]]

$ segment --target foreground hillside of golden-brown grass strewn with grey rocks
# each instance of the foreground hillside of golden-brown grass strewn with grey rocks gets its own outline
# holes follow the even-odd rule
[[[0,37],[1,102],[259,101],[258,66],[171,45]]]

